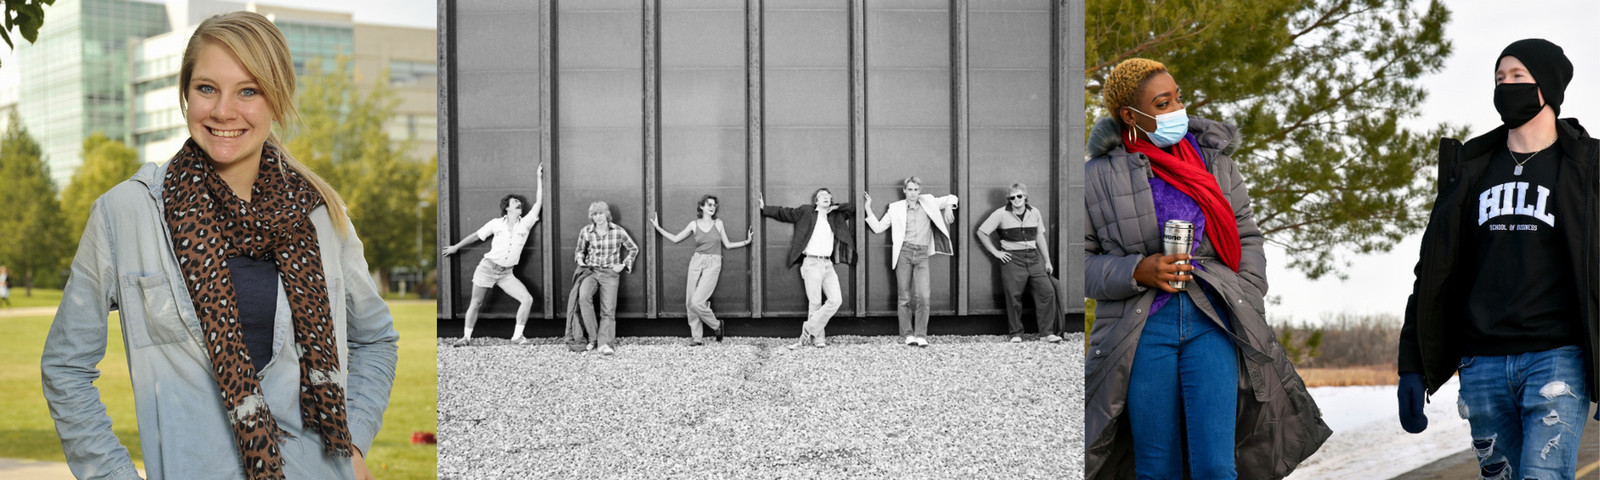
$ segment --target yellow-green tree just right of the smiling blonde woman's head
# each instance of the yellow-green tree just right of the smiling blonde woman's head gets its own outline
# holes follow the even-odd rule
[[[317,74],[302,83],[298,99],[302,128],[291,130],[288,149],[344,197],[365,243],[366,264],[376,272],[379,290],[387,291],[390,270],[421,269],[422,259],[432,259],[418,254],[416,238],[419,222],[437,214],[426,197],[434,187],[434,165],[406,158],[405,144],[395,144],[384,130],[398,104],[389,74],[379,75],[363,94],[357,91],[349,59],[336,62],[328,72],[320,59],[309,62],[307,70]],[[419,202],[427,202],[427,208]]]

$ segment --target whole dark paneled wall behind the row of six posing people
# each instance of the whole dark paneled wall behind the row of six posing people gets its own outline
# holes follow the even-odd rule
[[[925,192],[962,197],[957,254],[931,264],[933,314],[992,315],[998,264],[973,230],[1021,181],[1048,214],[1058,267],[1070,267],[1064,290],[1082,298],[1082,139],[1067,138],[1082,80],[1064,64],[1082,58],[1074,16],[1082,35],[1064,0],[440,2],[438,242],[498,216],[507,194],[533,195],[546,162],[544,222],[515,269],[534,317],[565,315],[595,200],[643,248],[618,317],[683,317],[693,248],[648,221],[656,211],[677,232],[712,194],[730,237],[754,226],[757,240],[725,253],[718,315],[794,317],[806,299],[782,262],[792,229],[763,221],[755,194],[792,206],[816,187],[848,202],[866,190],[882,214],[915,174]],[[894,315],[888,234],[856,226],[864,248],[840,269],[840,315]],[[464,315],[486,251],[440,264],[440,318]],[[483,317],[514,312],[491,294]]]

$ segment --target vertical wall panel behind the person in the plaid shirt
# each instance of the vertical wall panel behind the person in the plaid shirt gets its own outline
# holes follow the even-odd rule
[[[643,29],[638,2],[557,3],[557,138],[560,165],[550,211],[557,226],[557,285],[571,288],[578,232],[589,224],[592,202],[606,202],[613,222],[645,245],[643,179]],[[624,272],[618,285],[618,317],[643,317],[645,262]],[[557,296],[565,314],[566,296]]]

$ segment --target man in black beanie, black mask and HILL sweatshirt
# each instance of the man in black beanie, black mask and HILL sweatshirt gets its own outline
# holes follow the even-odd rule
[[[1438,197],[1400,330],[1400,426],[1461,374],[1483,478],[1573,478],[1600,371],[1600,141],[1560,118],[1573,64],[1518,40],[1494,61],[1501,125],[1438,147]],[[1597,414],[1600,418],[1600,414]]]

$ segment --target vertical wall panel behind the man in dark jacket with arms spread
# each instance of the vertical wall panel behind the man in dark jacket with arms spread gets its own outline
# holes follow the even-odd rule
[[[768,205],[810,203],[818,187],[850,189],[850,2],[766,3],[762,29],[763,136]],[[805,315],[805,283],[789,266],[790,224],[763,219],[766,315]],[[755,246],[755,245],[752,245]],[[838,269],[851,310],[850,267]]]

